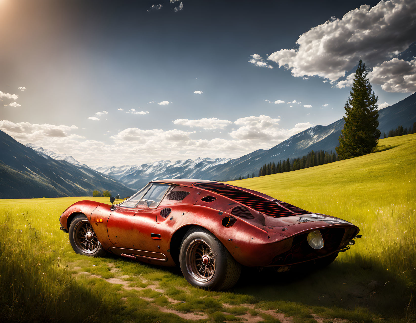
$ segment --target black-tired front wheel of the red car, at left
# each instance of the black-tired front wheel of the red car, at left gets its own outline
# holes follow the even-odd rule
[[[107,252],[97,239],[91,223],[84,214],[77,215],[69,225],[69,242],[77,254],[90,257],[102,257]],[[87,232],[91,235],[87,235]],[[84,237],[82,237],[84,235]],[[88,237],[88,240],[87,240]],[[91,239],[91,241],[89,241]]]

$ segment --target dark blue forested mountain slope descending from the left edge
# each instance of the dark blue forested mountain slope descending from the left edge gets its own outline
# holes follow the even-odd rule
[[[35,152],[2,131],[0,151],[0,198],[92,196],[94,189],[108,189],[120,196],[134,193],[72,157],[61,155],[63,160],[53,159],[47,155],[52,152]]]

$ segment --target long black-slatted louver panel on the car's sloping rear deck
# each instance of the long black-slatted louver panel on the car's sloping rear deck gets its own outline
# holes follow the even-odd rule
[[[233,186],[226,185],[226,184],[196,183],[196,184],[193,184],[193,186],[197,186],[207,191],[211,191],[211,192],[223,195],[238,203],[248,206],[249,208],[252,208],[253,210],[256,210],[260,213],[263,213],[265,215],[270,215],[273,217],[310,213],[305,210],[296,208],[295,206],[291,206],[295,209],[290,210],[287,207],[278,205],[276,202],[267,200],[258,195],[243,191],[241,189],[238,189]],[[278,203],[281,203],[281,202],[279,201]],[[288,203],[285,203],[285,204],[290,206],[290,204]],[[297,213],[297,210],[302,210],[302,213]]]

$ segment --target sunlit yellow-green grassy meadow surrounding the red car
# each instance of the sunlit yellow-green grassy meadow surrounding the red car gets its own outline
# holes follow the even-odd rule
[[[0,200],[0,317],[10,322],[414,322],[416,134],[378,151],[233,181],[360,228],[362,238],[318,272],[244,269],[230,291],[191,287],[179,269],[77,255],[59,230],[72,203]]]

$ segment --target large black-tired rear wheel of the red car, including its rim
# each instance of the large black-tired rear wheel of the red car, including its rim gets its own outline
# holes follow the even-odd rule
[[[233,287],[241,273],[241,265],[217,237],[199,227],[189,229],[183,238],[179,264],[191,285],[216,291]]]

